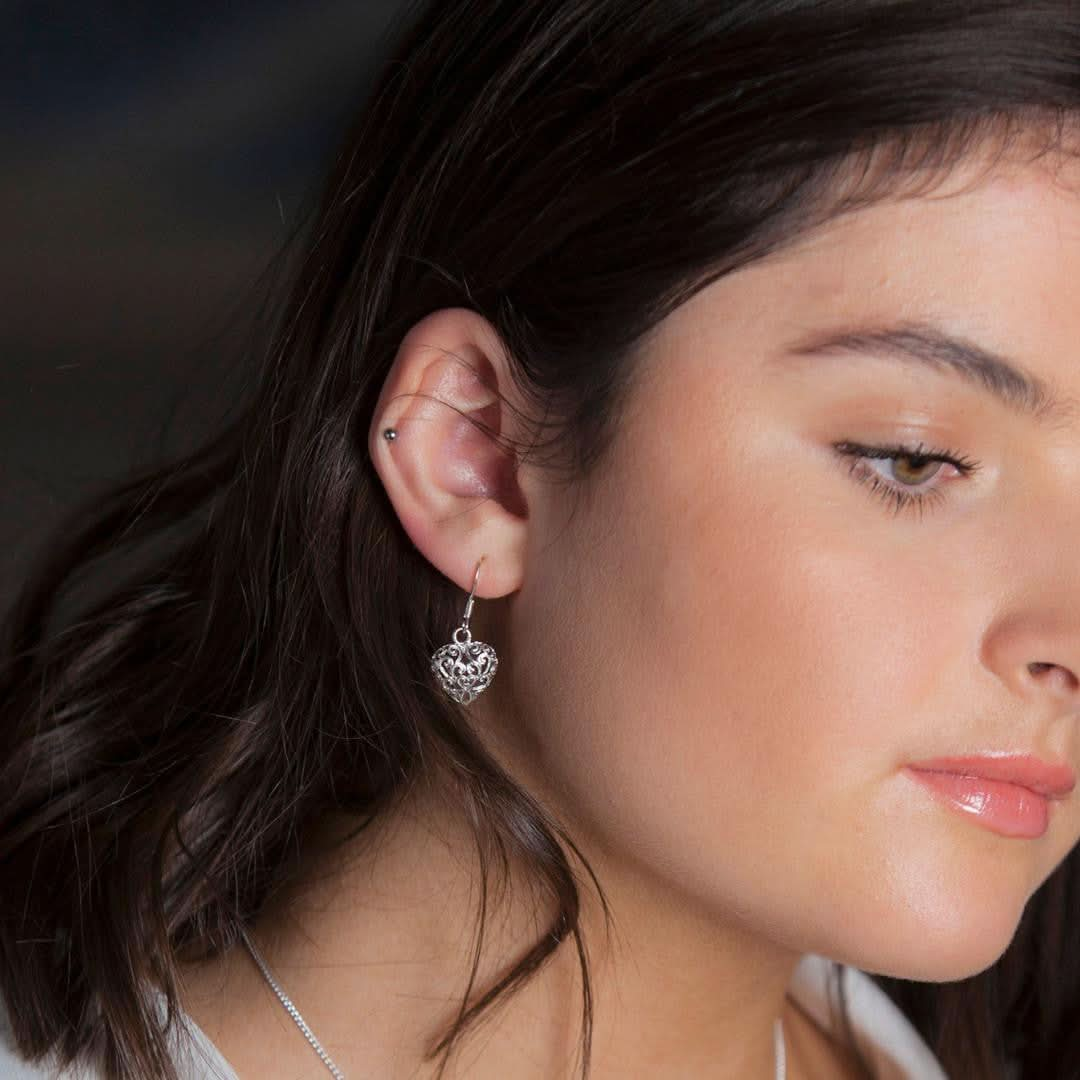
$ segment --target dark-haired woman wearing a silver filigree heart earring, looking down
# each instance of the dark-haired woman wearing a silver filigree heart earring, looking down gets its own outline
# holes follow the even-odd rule
[[[8,1061],[1077,1075],[1078,110],[1066,2],[413,9],[10,612]]]

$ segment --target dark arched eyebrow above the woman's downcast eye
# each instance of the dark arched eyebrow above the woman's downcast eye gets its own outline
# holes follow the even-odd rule
[[[818,330],[784,346],[779,359],[843,353],[864,353],[957,375],[1013,413],[1039,422],[1071,419],[1078,415],[1075,399],[1059,394],[1049,382],[1015,361],[948,334],[932,323],[903,322]]]

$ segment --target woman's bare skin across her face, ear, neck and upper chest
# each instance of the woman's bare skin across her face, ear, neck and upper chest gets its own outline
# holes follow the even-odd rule
[[[1044,164],[973,187],[961,171],[936,198],[847,215],[704,289],[646,343],[572,517],[572,492],[538,467],[508,481],[468,421],[409,396],[527,440],[450,355],[524,408],[488,324],[444,310],[402,342],[369,451],[462,606],[486,556],[472,629],[500,667],[470,715],[567,823],[615,912],[608,942],[583,887],[593,1080],[768,1080],[778,1015],[792,1080],[858,1076],[786,996],[798,959],[976,974],[1080,838],[1080,798],[1038,839],[1010,839],[901,771],[993,751],[1080,766],[1080,195],[1064,167],[1070,185]],[[1009,354],[1069,408],[1039,422],[946,373],[787,359],[804,335],[901,321]],[[865,462],[885,486],[936,487],[921,515],[835,449],[920,440],[980,463]],[[347,1076],[427,1080],[427,1041],[469,976],[475,856],[430,792],[378,837],[254,936]],[[492,915],[477,987],[546,924],[525,880],[515,868]],[[246,951],[188,975],[185,1007],[242,1078],[268,1063],[323,1075]],[[580,989],[567,942],[448,1080],[573,1076]]]

